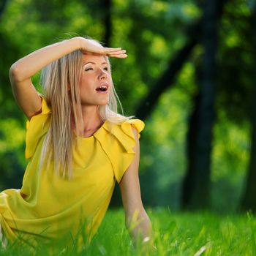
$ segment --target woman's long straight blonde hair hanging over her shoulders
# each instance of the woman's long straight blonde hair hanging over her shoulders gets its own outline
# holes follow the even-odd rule
[[[91,40],[97,42],[94,39]],[[41,73],[43,94],[51,108],[51,120],[42,146],[39,170],[42,169],[43,163],[48,168],[50,161],[53,161],[56,173],[64,178],[72,177],[72,144],[78,143],[74,140],[72,119],[77,134],[78,127],[83,125],[79,91],[79,78],[83,67],[82,55],[80,50],[75,50],[50,63],[42,69]],[[110,70],[108,56],[105,56],[105,60]],[[123,122],[131,117],[118,114],[117,102],[120,107],[121,102],[116,94],[112,78],[110,80],[112,86],[110,86],[109,102],[108,105],[99,106],[99,115],[102,121]]]

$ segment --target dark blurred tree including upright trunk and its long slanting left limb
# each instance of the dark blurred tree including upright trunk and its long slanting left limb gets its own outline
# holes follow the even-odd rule
[[[189,169],[184,179],[183,190],[184,206],[188,206],[189,204],[191,204],[194,205],[194,207],[206,206],[209,199],[208,195],[210,183],[211,127],[213,123],[214,109],[214,97],[212,94],[214,84],[211,83],[214,83],[214,78],[216,75],[216,72],[214,72],[215,69],[213,58],[215,58],[215,37],[217,36],[217,33],[214,29],[216,29],[217,24],[215,24],[216,20],[214,19],[216,19],[217,16],[219,16],[222,12],[221,6],[219,6],[219,8],[215,7],[215,1],[207,3],[206,7],[208,8],[206,8],[203,20],[200,20],[198,23],[192,26],[192,28],[189,29],[189,39],[187,44],[184,46],[184,48],[178,51],[175,59],[169,61],[167,69],[159,77],[155,85],[151,88],[151,91],[148,92],[148,95],[146,95],[146,97],[140,102],[140,105],[136,111],[136,116],[138,116],[139,118],[146,118],[146,116],[151,113],[151,110],[154,110],[154,107],[162,92],[165,91],[167,88],[170,88],[170,86],[174,84],[173,79],[176,77],[178,71],[181,69],[182,65],[189,56],[189,53],[191,53],[191,50],[198,42],[198,31],[202,29],[204,41],[203,43],[206,47],[206,53],[204,58],[205,65],[203,66],[205,68],[203,69],[203,78],[201,82],[204,95],[200,98],[200,110],[198,110],[198,108],[196,107],[194,115],[192,115],[193,118],[197,119],[197,121],[193,120],[192,123],[190,123],[189,127],[189,135],[197,136],[188,137],[188,143],[190,145],[188,154]],[[216,13],[214,12],[214,10],[216,10]],[[202,28],[200,26],[202,26]],[[210,63],[208,62],[209,60]],[[208,64],[208,66],[206,64]],[[199,98],[196,97],[196,99]],[[208,108],[206,108],[207,105]],[[205,112],[205,110],[209,110],[209,112],[207,113]],[[198,116],[195,116],[195,113],[198,113]],[[198,132],[196,134],[195,132],[192,132],[192,130],[197,131],[197,129],[195,129],[193,125],[195,123],[197,124],[197,129],[202,129],[201,132]],[[200,135],[202,135],[203,138],[200,138]],[[205,137],[208,139],[206,140]],[[196,150],[197,147],[198,150]],[[205,163],[205,165],[202,165],[202,163]],[[202,174],[205,174],[205,176],[203,176]],[[195,197],[193,197],[193,192],[195,192]],[[204,195],[205,197],[198,197],[198,195]],[[192,200],[193,202],[189,202],[190,200]]]

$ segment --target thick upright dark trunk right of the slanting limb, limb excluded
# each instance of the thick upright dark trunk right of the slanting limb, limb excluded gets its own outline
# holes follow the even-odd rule
[[[204,48],[200,93],[195,97],[187,135],[188,170],[184,177],[183,208],[207,208],[211,175],[211,141],[214,124],[214,95],[217,50],[217,1],[206,0],[201,31]]]

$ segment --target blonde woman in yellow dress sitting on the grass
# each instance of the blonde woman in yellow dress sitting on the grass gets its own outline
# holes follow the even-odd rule
[[[12,91],[28,118],[29,164],[21,189],[0,193],[2,240],[7,243],[90,241],[115,181],[133,241],[151,237],[138,179],[144,124],[117,113],[108,57],[127,55],[121,48],[73,37],[12,64]],[[43,96],[31,83],[41,69]]]

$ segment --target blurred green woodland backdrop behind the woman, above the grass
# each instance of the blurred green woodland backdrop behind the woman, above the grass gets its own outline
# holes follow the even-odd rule
[[[146,123],[144,204],[255,211],[255,13],[253,0],[1,0],[0,189],[20,188],[26,168],[11,64],[80,35],[127,50],[111,63],[124,113]]]

